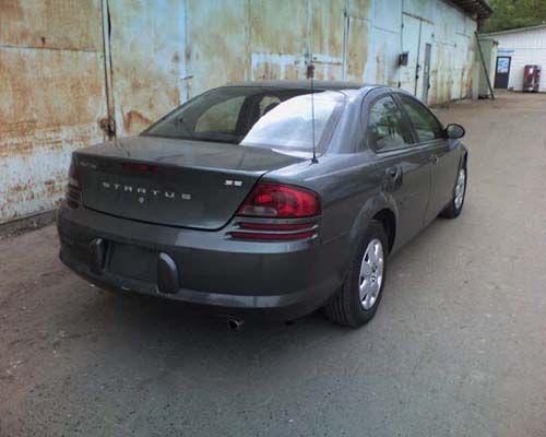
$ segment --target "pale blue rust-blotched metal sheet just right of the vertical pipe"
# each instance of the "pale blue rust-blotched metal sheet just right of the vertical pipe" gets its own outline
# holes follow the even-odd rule
[[[116,133],[134,135],[186,99],[185,3],[108,0],[106,7]]]

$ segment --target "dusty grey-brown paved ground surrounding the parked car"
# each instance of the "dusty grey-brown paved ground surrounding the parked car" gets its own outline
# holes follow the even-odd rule
[[[546,436],[546,95],[438,110],[467,129],[463,214],[393,259],[351,331],[117,296],[0,240],[0,436]]]

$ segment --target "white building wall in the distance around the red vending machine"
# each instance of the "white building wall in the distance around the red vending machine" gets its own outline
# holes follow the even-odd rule
[[[488,34],[499,43],[497,56],[510,56],[508,87],[521,91],[525,66],[542,66],[546,74],[546,26],[511,33]],[[539,91],[546,92],[546,75],[543,74]]]

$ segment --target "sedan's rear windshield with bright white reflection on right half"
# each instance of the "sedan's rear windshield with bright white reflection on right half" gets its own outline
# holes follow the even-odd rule
[[[142,134],[311,151],[314,126],[314,143],[322,150],[344,95],[320,91],[312,99],[314,122],[309,90],[215,88],[178,107]]]

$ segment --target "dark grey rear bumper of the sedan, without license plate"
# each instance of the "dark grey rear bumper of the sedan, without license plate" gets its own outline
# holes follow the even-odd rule
[[[343,268],[332,262],[344,245],[341,238],[328,244],[318,238],[292,243],[236,241],[222,231],[139,223],[66,205],[58,211],[57,226],[61,261],[97,286],[205,305],[230,316],[249,311],[265,311],[285,319],[304,316],[322,306],[343,277]],[[110,251],[119,245],[129,245],[147,253],[167,253],[177,265],[178,290],[161,293],[157,272],[120,274],[112,268],[111,253],[106,257],[104,269],[97,272],[88,253],[90,244],[96,238],[108,241]],[[139,265],[136,259],[127,262]]]

